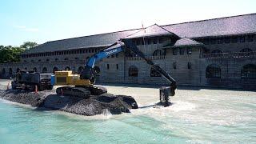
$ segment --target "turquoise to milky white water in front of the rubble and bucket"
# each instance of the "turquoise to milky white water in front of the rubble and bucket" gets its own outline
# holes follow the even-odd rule
[[[256,93],[178,90],[170,107],[83,117],[0,100],[0,143],[256,143]],[[143,99],[143,98],[142,98]]]

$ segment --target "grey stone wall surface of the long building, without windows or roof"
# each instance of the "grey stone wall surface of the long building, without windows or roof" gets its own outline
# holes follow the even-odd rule
[[[140,45],[138,48],[150,58],[166,70],[178,85],[184,86],[227,86],[227,87],[245,87],[255,86],[254,80],[244,80],[241,78],[242,66],[247,64],[256,65],[256,57],[252,52],[250,55],[239,55],[237,52],[249,48],[256,51],[256,37],[253,42],[237,42],[209,44],[205,46],[189,46],[178,48],[178,54],[173,54],[172,47],[163,47],[166,43],[170,43],[170,39],[166,39],[163,43]],[[187,54],[187,49],[191,48],[192,53]],[[98,49],[98,48],[97,48]],[[179,49],[184,49],[184,54],[180,54]],[[153,55],[155,50],[162,50],[162,55]],[[213,50],[221,50],[222,54],[203,54],[205,50],[212,52]],[[1,78],[10,78],[17,69],[36,69],[38,72],[47,70],[47,73],[53,73],[54,67],[58,70],[65,70],[69,67],[71,70],[78,72],[80,66],[84,66],[86,58],[94,53],[86,54],[65,54],[57,56],[46,56],[40,58],[23,58],[22,62],[0,64]],[[58,58],[58,61],[55,60]],[[68,60],[65,60],[68,58]],[[77,58],[77,59],[75,59]],[[41,59],[41,62],[38,60]],[[46,59],[49,59],[47,62]],[[26,60],[26,62],[24,62]],[[33,60],[34,62],[31,62]],[[174,68],[174,62],[176,68]],[[221,78],[206,78],[206,67],[216,64],[221,67]],[[190,65],[190,68],[189,66]],[[163,77],[153,77],[151,75],[151,67],[146,64],[142,58],[127,57],[124,52],[104,58],[97,62],[101,70],[97,82],[121,82],[121,83],[142,83],[142,84],[168,84]],[[138,76],[129,76],[130,66],[138,68]],[[5,71],[5,72],[4,72]]]

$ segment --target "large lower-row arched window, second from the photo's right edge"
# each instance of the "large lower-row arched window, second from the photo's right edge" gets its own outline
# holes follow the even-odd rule
[[[216,64],[206,67],[206,78],[221,78],[221,68]]]

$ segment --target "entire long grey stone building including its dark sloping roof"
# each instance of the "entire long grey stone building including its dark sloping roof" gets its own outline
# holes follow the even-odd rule
[[[124,30],[51,41],[24,52],[22,62],[0,64],[1,77],[17,70],[41,73],[79,72],[92,54],[130,38],[147,58],[186,86],[256,88],[256,14],[184,22],[144,30]],[[119,53],[97,63],[97,82],[167,83],[132,53]]]

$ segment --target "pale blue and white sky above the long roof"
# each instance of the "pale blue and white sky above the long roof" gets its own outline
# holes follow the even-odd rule
[[[2,0],[0,45],[252,13],[255,0]]]

